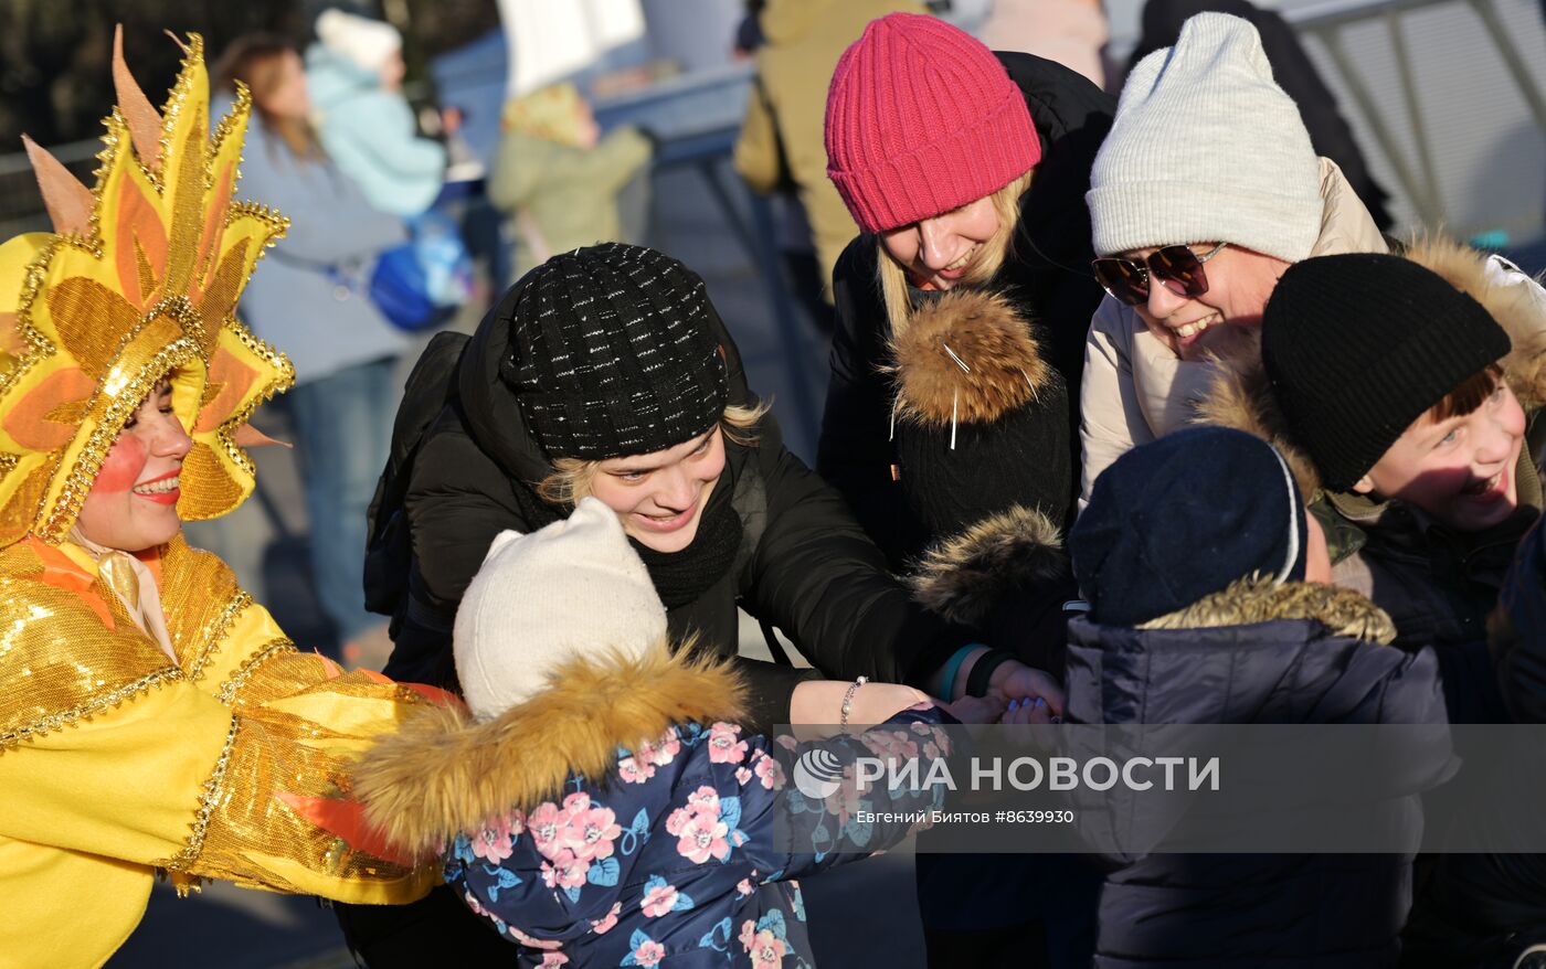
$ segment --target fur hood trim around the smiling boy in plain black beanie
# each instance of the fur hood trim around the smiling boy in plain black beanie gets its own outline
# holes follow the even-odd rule
[[[1546,294],[1523,275],[1518,284],[1500,283],[1486,253],[1446,238],[1416,238],[1402,257],[1444,277],[1492,314],[1514,345],[1503,359],[1509,389],[1526,411],[1546,406]],[[1294,471],[1305,501],[1314,501],[1320,474],[1288,434],[1262,365],[1260,332],[1252,337],[1254,352],[1215,360],[1212,385],[1198,403],[1195,422],[1231,427],[1271,442]]]

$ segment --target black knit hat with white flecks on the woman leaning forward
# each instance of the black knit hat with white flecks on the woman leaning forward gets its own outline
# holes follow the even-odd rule
[[[648,454],[724,414],[714,309],[677,260],[606,243],[555,255],[518,286],[501,369],[549,457]]]

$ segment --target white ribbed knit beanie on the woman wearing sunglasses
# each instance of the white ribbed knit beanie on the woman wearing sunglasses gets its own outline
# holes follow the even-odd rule
[[[1234,243],[1289,263],[1320,235],[1320,168],[1255,28],[1197,14],[1129,74],[1090,170],[1096,255]]]

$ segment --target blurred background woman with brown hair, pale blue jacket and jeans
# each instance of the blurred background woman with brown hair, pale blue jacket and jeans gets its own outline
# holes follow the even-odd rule
[[[309,119],[300,53],[284,39],[235,40],[215,70],[232,96],[252,91],[243,187],[291,213],[284,252],[247,287],[243,315],[263,340],[288,348],[288,403],[300,450],[317,598],[345,660],[380,666],[390,648],[365,610],[365,512],[386,464],[397,406],[393,366],[408,340],[371,304],[369,272],[407,238],[402,221],[369,204],[323,150]],[[377,655],[380,654],[380,655]]]

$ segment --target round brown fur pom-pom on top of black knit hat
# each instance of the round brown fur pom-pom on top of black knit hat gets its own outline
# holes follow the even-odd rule
[[[890,342],[897,414],[929,427],[991,422],[1054,379],[1031,325],[1003,294],[952,289]]]

